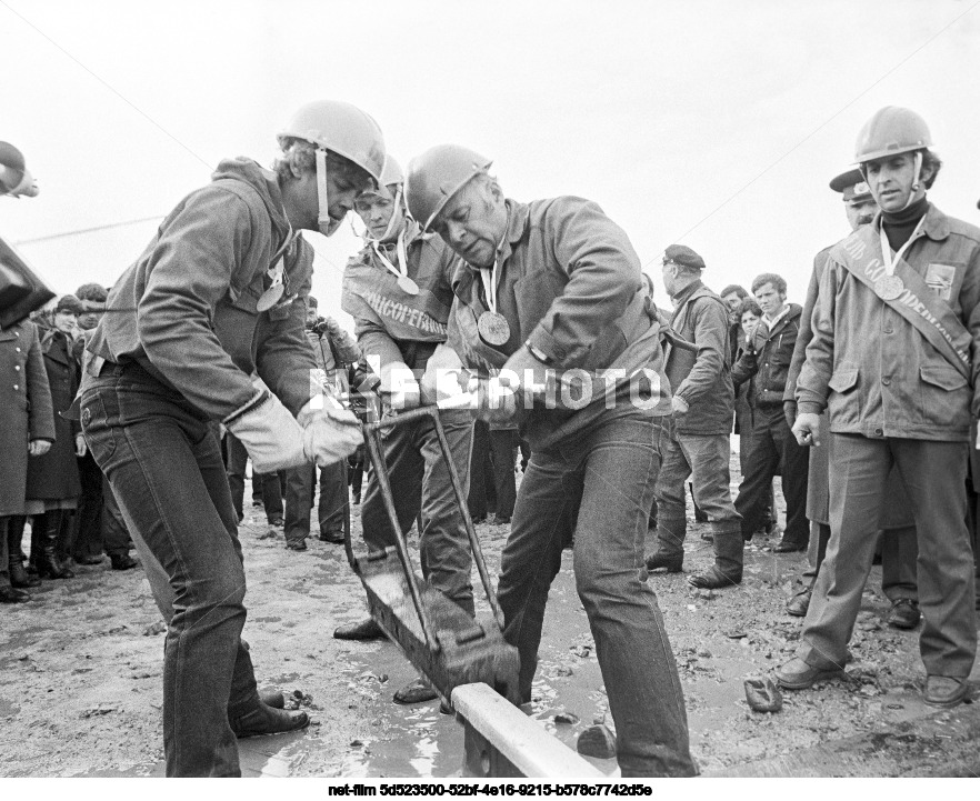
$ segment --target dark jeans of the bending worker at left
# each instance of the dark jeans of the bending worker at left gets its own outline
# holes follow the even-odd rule
[[[138,368],[107,364],[100,378],[87,377],[81,411],[134,544],[167,577],[164,584],[158,571],[151,583],[164,617],[172,604],[163,662],[167,775],[240,775],[229,724],[233,687],[242,707],[258,701],[241,640],[244,570],[218,440],[179,393]]]

